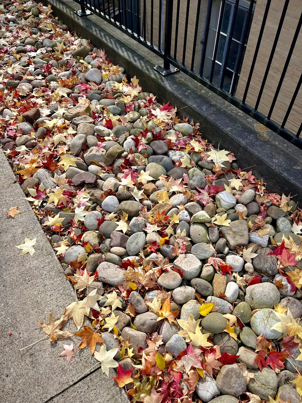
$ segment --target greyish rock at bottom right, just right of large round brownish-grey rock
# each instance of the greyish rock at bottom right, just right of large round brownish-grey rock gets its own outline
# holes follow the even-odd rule
[[[250,370],[255,375],[255,379],[250,379],[248,391],[254,393],[263,400],[269,400],[269,397],[275,397],[277,393],[278,380],[275,371],[271,368],[262,368],[260,370]]]

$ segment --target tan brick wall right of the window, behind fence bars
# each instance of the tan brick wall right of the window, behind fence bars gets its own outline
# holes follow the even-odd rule
[[[250,66],[252,58],[254,56],[254,49],[257,43],[259,30],[261,27],[264,10],[267,0],[257,0],[254,18],[252,21],[252,26],[250,30],[250,35],[248,37],[248,44],[246,48],[246,53],[244,56],[244,61],[242,64],[242,69],[240,73],[240,79],[238,82],[238,87],[236,90],[236,96],[242,99],[244,94],[244,89],[246,87],[246,81],[248,78],[248,73],[250,71]],[[250,106],[254,106],[259,94],[259,88],[262,83],[263,74],[265,72],[268,58],[271,52],[273,41],[275,38],[275,33],[277,31],[278,23],[281,17],[281,12],[283,9],[284,0],[272,0],[269,15],[267,17],[266,27],[263,33],[263,38],[261,41],[261,47],[254,67],[254,73],[252,80],[250,82],[250,88],[248,91],[248,96],[246,98],[246,103]],[[291,0],[288,6],[286,17],[281,29],[281,34],[277,44],[277,48],[273,57],[273,62],[267,77],[267,82],[263,91],[261,102],[259,104],[259,112],[267,115],[275,90],[277,88],[279,78],[284,66],[284,62],[288,55],[288,50],[292,43],[292,39],[295,33],[295,29],[298,23],[298,19],[302,12],[302,1],[301,0]],[[283,84],[281,86],[275,108],[271,118],[277,123],[282,123],[283,117],[288,109],[290,101],[292,100],[292,95],[296,89],[298,80],[302,73],[302,32],[298,36],[298,40],[292,54],[290,64],[288,66],[287,73],[285,75]],[[289,129],[293,133],[296,133],[300,127],[302,120],[302,88],[300,89],[296,102],[292,108],[290,116],[288,118],[286,129]]]

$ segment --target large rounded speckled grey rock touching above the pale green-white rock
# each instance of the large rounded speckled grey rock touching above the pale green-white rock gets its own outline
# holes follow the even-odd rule
[[[261,283],[250,285],[246,288],[244,301],[251,309],[274,308],[280,301],[280,293],[273,283]]]

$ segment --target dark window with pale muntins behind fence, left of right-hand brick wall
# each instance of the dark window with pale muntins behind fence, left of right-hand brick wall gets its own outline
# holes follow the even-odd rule
[[[212,10],[211,10],[211,20],[209,25],[209,35],[208,35],[208,42],[207,48],[205,53],[205,66],[203,69],[203,75],[205,78],[209,79],[211,74],[212,62],[214,58],[214,49],[216,41],[218,42],[218,50],[217,55],[214,61],[214,75],[213,75],[213,83],[216,86],[220,86],[221,84],[221,75],[222,69],[221,66],[226,57],[227,51],[227,44],[229,40],[232,41],[229,58],[227,60],[227,67],[225,72],[225,78],[223,81],[223,89],[225,91],[230,91],[231,89],[235,88],[238,83],[238,78],[236,82],[234,82],[234,71],[236,70],[237,63],[241,64],[243,61],[244,52],[246,49],[246,43],[248,35],[246,36],[246,42],[244,44],[244,52],[242,56],[242,60],[238,60],[238,54],[240,50],[240,45],[242,44],[242,37],[244,33],[244,29],[246,27],[246,20],[248,14],[248,7],[250,3],[245,0],[240,0],[239,7],[237,11],[235,27],[233,37],[230,38],[230,30],[231,30],[231,21],[234,15],[235,3],[233,0],[226,0],[225,7],[222,16],[222,23],[221,29],[218,32],[218,25],[219,25],[219,15],[221,11],[221,0],[213,0]],[[251,19],[252,20],[252,19]],[[251,24],[251,21],[250,21]],[[250,26],[248,27],[248,32],[250,30]],[[240,73],[239,69],[239,73]]]

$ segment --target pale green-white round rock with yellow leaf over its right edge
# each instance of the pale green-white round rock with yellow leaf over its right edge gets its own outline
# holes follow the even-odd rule
[[[271,327],[278,322],[280,319],[275,312],[272,309],[264,308],[252,316],[250,327],[257,336],[262,333],[266,339],[275,340],[282,336],[282,333],[277,330],[271,330]]]

